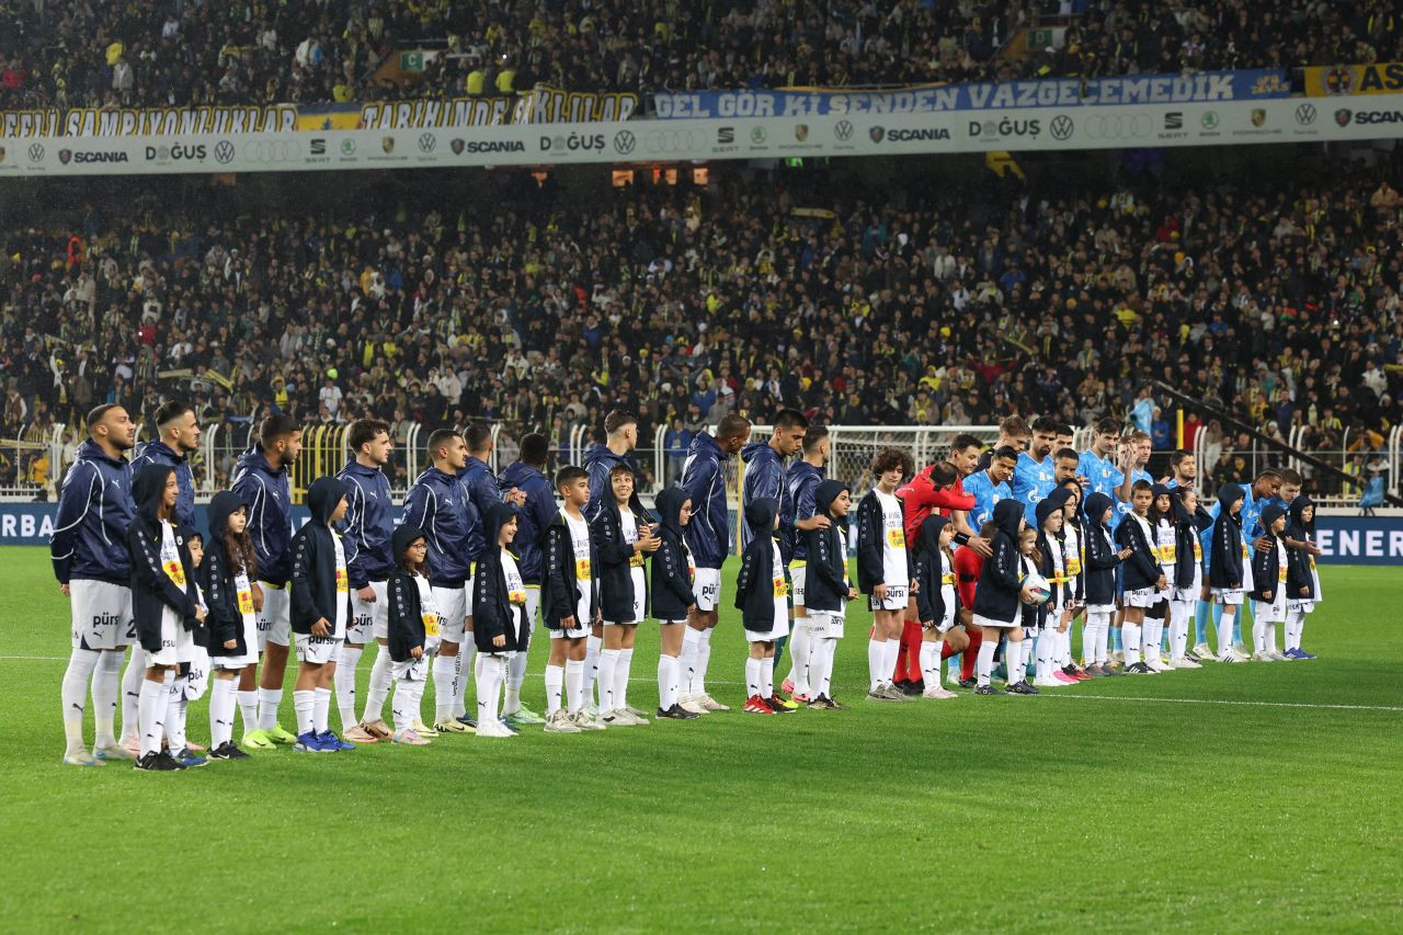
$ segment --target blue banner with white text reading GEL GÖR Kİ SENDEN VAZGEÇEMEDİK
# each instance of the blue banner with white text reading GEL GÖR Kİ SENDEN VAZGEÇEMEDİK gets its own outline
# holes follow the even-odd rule
[[[735,117],[885,117],[946,111],[1121,104],[1221,104],[1291,95],[1284,70],[1132,74],[1108,79],[1028,79],[985,84],[929,84],[895,91],[780,88],[654,94],[662,119]]]

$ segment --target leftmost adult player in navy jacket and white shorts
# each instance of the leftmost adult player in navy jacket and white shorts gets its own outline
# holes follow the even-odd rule
[[[123,452],[136,442],[136,425],[121,406],[98,406],[87,414],[88,438],[63,477],[53,519],[49,556],[59,591],[69,598],[73,649],[63,672],[63,762],[100,767],[108,760],[135,760],[116,741],[116,692],[122,656],[136,640],[132,622],[132,557],[126,529],[132,503],[132,469]],[[145,671],[142,660],[133,663]],[[83,743],[83,708],[93,685],[93,751]],[[136,713],[130,723],[136,724]],[[128,727],[126,723],[122,724]],[[135,729],[132,730],[135,736]]]

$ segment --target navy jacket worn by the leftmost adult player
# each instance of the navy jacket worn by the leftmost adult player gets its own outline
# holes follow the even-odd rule
[[[49,538],[49,557],[59,583],[77,578],[130,584],[126,529],[135,515],[130,465],[125,458],[108,458],[91,438],[83,442],[63,477],[59,514]]]

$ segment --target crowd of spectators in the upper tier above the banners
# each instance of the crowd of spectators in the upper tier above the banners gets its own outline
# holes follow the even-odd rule
[[[1065,44],[1009,45],[1035,22]],[[0,108],[1094,77],[1399,60],[1400,41],[1390,0],[0,0]],[[389,80],[419,46],[424,73]]]

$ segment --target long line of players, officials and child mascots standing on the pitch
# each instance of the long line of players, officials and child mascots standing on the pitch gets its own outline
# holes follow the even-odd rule
[[[184,720],[188,703],[208,691],[210,670],[212,755],[220,758],[278,744],[333,751],[383,738],[421,744],[439,733],[506,737],[543,722],[553,733],[644,724],[645,713],[627,703],[627,684],[636,629],[650,604],[662,643],[657,715],[693,719],[727,710],[707,692],[706,677],[721,599],[720,570],[731,542],[725,462],[737,453],[745,460],[737,595],[749,643],[745,710],[842,706],[832,698],[831,674],[846,602],[857,594],[846,577],[850,491],[825,480],[828,432],[810,427],[798,413],[781,411],[765,442],[749,442],[751,427],[737,416],[724,418],[716,437],[700,434],[682,487],[659,496],[658,518],[637,497],[629,462],[637,423],[627,413],[612,413],[607,438],[589,452],[586,468],[564,469],[554,484],[543,473],[547,451],[540,435],[525,438],[521,460],[497,479],[487,463],[491,437],[484,427],[464,434],[438,431],[429,438],[434,465],[410,490],[398,529],[382,470],[391,451],[387,427],[362,420],[349,430],[351,460],[335,479],[320,479],[309,491],[313,521],[296,536],[288,468],[299,456],[300,430],[275,414],[240,456],[233,490],[212,501],[208,541],[194,531],[194,483],[185,460],[199,439],[194,411],[171,403],[156,423],[160,438],[128,465],[135,425],[121,407],[98,407],[88,420],[91,437],[65,480],[52,550],[73,608],[73,656],[63,681],[66,762],[139,758],[157,764],[152,768],[178,768],[202,760],[185,737]],[[1246,546],[1240,533],[1229,542],[1225,532],[1223,542],[1236,542],[1232,555],[1240,546],[1244,562],[1200,563],[1197,556],[1208,553],[1218,533],[1197,535],[1211,517],[1194,503],[1191,458],[1176,456],[1174,477],[1159,490],[1148,476],[1138,476],[1148,459],[1148,438],[1122,441],[1118,424],[1097,425],[1092,451],[1080,456],[1058,445],[1070,441],[1070,431],[1054,423],[1038,421],[1030,431],[1021,420],[1006,420],[1000,434],[982,469],[981,445],[968,435],[955,439],[947,460],[915,477],[909,456],[895,449],[880,452],[873,463],[877,484],[857,511],[856,581],[874,614],[870,699],[953,696],[939,684],[940,660],[953,656],[962,656],[964,663],[955,674],[951,661],[951,681],[991,694],[996,650],[1005,653],[1010,691],[1035,691],[1023,678],[1026,629],[1038,637],[1037,684],[1114,674],[1099,642],[1107,630],[1120,635],[1122,629],[1120,619],[1111,626],[1111,612],[1124,614],[1124,632],[1135,635],[1125,649],[1128,671],[1197,664],[1195,650],[1201,658],[1207,649],[1202,606],[1194,650],[1179,646],[1183,633],[1174,628],[1187,629],[1188,591],[1207,597],[1200,594],[1204,567],[1212,570],[1212,584],[1221,585],[1214,595],[1228,611],[1219,633],[1225,635],[1223,626],[1232,630],[1233,611],[1242,594],[1251,591],[1253,563],[1246,559],[1253,550],[1275,556],[1267,539],[1278,524],[1266,501],[1275,496],[1280,475],[1266,472],[1243,498],[1219,498],[1229,507],[1226,515],[1237,515],[1243,504],[1244,522],[1267,526]],[[1117,449],[1118,463],[1113,463]],[[136,483],[133,472],[137,480],[152,477]],[[1292,479],[1287,480],[1289,497]],[[1177,493],[1170,494],[1174,487]],[[1097,497],[1104,497],[1104,526],[1082,518],[1087,489],[1087,507],[1100,507]],[[564,508],[557,507],[557,496]],[[1292,507],[1298,538],[1278,536],[1289,552],[1257,577],[1285,576],[1294,567],[1291,556],[1301,555],[1309,560],[1310,583],[1291,581],[1289,611],[1285,588],[1258,588],[1254,595],[1260,625],[1291,614],[1288,654],[1305,657],[1299,632],[1319,598],[1319,578],[1310,557],[1312,508],[1303,498]],[[1152,511],[1157,515],[1146,532]],[[1125,526],[1131,535],[1121,536],[1127,517],[1136,522]],[[1162,521],[1174,532],[1160,532]],[[1195,535],[1180,539],[1186,522]],[[982,528],[976,532],[975,525]],[[1107,545],[1113,557],[1099,559],[1101,535],[1128,545],[1120,550]],[[951,553],[954,545],[958,553]],[[1181,549],[1177,557],[1176,546]],[[1190,550],[1194,562],[1184,559]],[[209,556],[205,563],[198,560],[201,553]],[[651,578],[644,570],[650,556]],[[992,562],[984,567],[986,559]],[[1145,587],[1121,581],[1103,587],[1104,569],[1080,570],[1099,562],[1106,567],[1128,562],[1127,569],[1139,570],[1149,563],[1163,574],[1145,583],[1145,574],[1127,573],[1129,584]],[[480,564],[491,574],[480,576]],[[153,577],[153,569],[166,577]],[[324,574],[318,577],[317,569]],[[1041,608],[1020,584],[1034,570],[1054,583],[1052,599]],[[203,587],[196,588],[196,581]],[[1146,590],[1153,594],[1142,594]],[[1124,591],[1124,597],[1099,597],[1101,591]],[[1115,604],[1125,606],[1117,611]],[[1155,635],[1153,646],[1159,646],[1153,621],[1163,621],[1164,606],[1173,614],[1169,663],[1150,653],[1149,642]],[[1079,668],[1070,658],[1069,625],[1083,609],[1086,667]],[[551,636],[546,717],[521,703],[525,650],[537,614]],[[1145,619],[1152,623],[1142,625]],[[195,636],[187,639],[188,633]],[[1254,635],[1257,657],[1271,658],[1274,647],[1264,646],[1260,632]],[[774,665],[790,639],[790,675],[776,692]],[[116,685],[128,644],[133,654],[122,679],[125,737],[119,741],[114,736]],[[355,671],[369,644],[376,657],[358,716]],[[1244,656],[1228,646],[1226,636],[1219,646],[1225,661]],[[278,723],[292,647],[299,658],[296,733]],[[470,672],[478,679],[477,717],[467,715],[464,702]],[[435,685],[432,727],[419,717],[428,679]],[[83,741],[88,682],[97,726],[91,754]],[[383,720],[391,688],[394,730]],[[344,738],[328,726],[333,694]],[[236,708],[244,723],[239,745],[231,743]],[[145,719],[143,712],[149,712]],[[160,729],[139,730],[143,720]],[[160,751],[163,740],[173,752]]]

